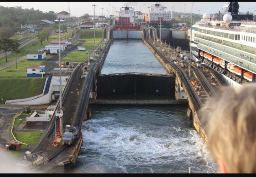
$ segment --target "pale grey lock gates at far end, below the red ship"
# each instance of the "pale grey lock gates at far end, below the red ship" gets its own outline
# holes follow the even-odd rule
[[[133,30],[114,30],[114,39],[142,39],[142,31]]]

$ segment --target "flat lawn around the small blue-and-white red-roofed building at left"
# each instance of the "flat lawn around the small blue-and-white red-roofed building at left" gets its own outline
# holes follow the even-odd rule
[[[18,62],[17,63],[17,69],[16,64],[11,65],[8,68],[5,68],[0,71],[0,78],[26,78],[27,77],[27,69],[29,65],[32,64],[42,64],[42,61],[27,61],[27,59]]]

